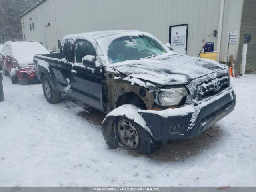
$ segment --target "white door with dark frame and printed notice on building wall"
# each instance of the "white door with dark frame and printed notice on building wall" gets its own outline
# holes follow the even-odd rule
[[[169,42],[172,51],[186,55],[188,42],[188,24],[170,26]]]

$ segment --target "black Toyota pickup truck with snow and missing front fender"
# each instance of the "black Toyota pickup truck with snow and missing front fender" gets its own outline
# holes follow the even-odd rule
[[[36,55],[34,66],[48,102],[64,92],[107,114],[110,148],[150,154],[204,132],[236,103],[226,66],[171,52],[145,32],[68,35],[60,53]]]

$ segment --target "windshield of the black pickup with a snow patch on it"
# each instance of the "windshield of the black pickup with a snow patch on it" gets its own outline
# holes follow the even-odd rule
[[[139,60],[167,53],[161,44],[148,36],[124,36],[111,42],[108,47],[110,63]]]

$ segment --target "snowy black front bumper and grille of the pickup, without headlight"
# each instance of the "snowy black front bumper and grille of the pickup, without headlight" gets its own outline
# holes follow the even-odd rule
[[[176,140],[197,136],[234,110],[236,95],[225,71],[194,79],[180,91],[173,108],[139,111],[155,140]],[[175,95],[175,94],[174,94]],[[174,108],[175,107],[175,108]]]

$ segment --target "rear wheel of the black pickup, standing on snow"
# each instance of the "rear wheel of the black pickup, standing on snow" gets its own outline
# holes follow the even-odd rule
[[[50,104],[60,102],[61,94],[59,92],[56,92],[52,88],[52,85],[50,84],[50,81],[48,80],[48,78],[46,76],[44,76],[44,78],[42,80],[42,85],[43,85],[44,96]]]

